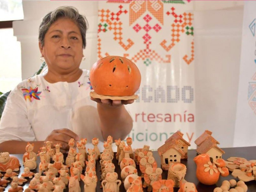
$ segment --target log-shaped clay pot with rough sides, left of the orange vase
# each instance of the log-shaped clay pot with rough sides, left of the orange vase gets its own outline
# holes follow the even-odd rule
[[[187,167],[184,164],[181,164],[181,163],[170,164],[167,179],[168,180],[171,179],[174,181],[173,187],[180,187],[182,183],[186,182],[186,180],[184,180],[186,171],[187,171]]]

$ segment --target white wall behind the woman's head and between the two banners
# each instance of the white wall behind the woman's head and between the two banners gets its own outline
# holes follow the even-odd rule
[[[195,28],[195,95],[198,137],[211,130],[220,147],[232,147],[241,51],[243,1],[193,1]],[[23,1],[24,20],[13,22],[21,43],[22,79],[41,65],[38,27],[46,12],[61,5],[78,8],[89,21],[86,60],[91,68],[97,60],[97,1]]]

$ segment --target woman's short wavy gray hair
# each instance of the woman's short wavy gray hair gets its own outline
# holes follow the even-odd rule
[[[88,21],[86,20],[85,16],[79,14],[78,10],[75,7],[71,6],[61,6],[55,9],[52,12],[49,12],[47,15],[44,16],[40,26],[39,26],[39,36],[38,40],[41,42],[42,46],[44,46],[44,36],[52,23],[59,18],[68,18],[73,20],[77,27],[80,29],[82,39],[83,39],[83,48],[86,46],[85,34],[86,30],[88,29]]]

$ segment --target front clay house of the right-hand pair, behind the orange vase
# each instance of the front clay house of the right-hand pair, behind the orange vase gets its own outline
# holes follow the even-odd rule
[[[207,153],[210,156],[211,161],[220,159],[222,154],[225,152],[217,146],[218,141],[216,141],[213,137],[208,137],[200,144],[200,146],[196,149],[198,154]]]

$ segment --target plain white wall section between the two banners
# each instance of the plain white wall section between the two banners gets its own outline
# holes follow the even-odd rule
[[[208,129],[220,147],[232,147],[243,6],[195,11],[194,19],[197,137]]]

